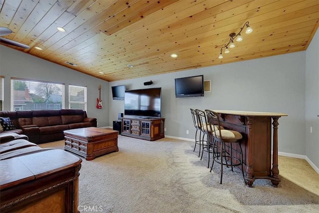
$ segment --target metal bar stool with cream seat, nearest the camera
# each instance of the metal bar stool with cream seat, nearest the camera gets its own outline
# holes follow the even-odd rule
[[[234,166],[241,166],[243,179],[246,184],[243,169],[243,151],[241,148],[241,139],[243,138],[243,136],[241,135],[241,133],[234,130],[221,129],[218,113],[208,109],[206,109],[205,112],[208,124],[218,127],[216,131],[212,132],[213,141],[210,141],[214,151],[213,163],[211,165],[210,172],[213,169],[214,162],[220,164],[220,184],[222,184],[223,166],[230,166],[232,172],[234,171]],[[233,149],[233,144],[235,143],[238,144],[239,150]],[[226,146],[228,149],[226,149]],[[238,153],[239,157],[233,155],[233,152]]]

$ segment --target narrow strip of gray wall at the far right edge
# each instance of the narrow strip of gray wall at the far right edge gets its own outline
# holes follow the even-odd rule
[[[317,115],[319,115],[319,30],[306,51],[306,156],[319,167]]]

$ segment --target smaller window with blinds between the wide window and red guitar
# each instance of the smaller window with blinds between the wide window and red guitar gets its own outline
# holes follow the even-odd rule
[[[69,109],[87,111],[87,87],[69,85]]]

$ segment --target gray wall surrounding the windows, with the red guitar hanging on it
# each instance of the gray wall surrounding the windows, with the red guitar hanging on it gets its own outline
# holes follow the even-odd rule
[[[72,69],[42,60],[35,56],[16,51],[0,45],[0,75],[4,76],[4,110],[10,110],[10,78],[25,78],[65,83],[68,85],[87,86],[89,117],[98,118],[98,126],[109,125],[109,82]],[[96,99],[99,97],[99,84],[102,85],[102,109],[97,109]],[[69,106],[68,92],[65,95],[65,108]]]

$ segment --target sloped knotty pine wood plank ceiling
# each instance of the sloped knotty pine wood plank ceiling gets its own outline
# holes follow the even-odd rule
[[[13,31],[2,37],[30,48],[7,46],[107,81],[306,50],[319,21],[319,0],[0,0],[0,9]],[[253,32],[219,59],[246,21]]]

